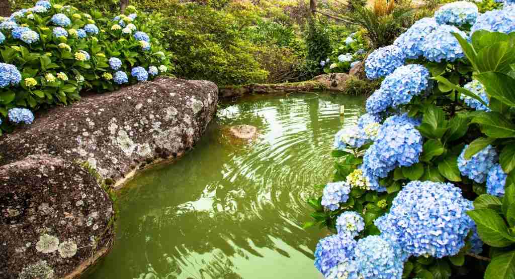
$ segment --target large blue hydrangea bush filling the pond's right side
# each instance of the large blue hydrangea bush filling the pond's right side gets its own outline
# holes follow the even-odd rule
[[[333,233],[315,253],[325,278],[513,278],[513,38],[510,1],[456,2],[368,56],[381,87],[336,134],[334,182],[308,200],[305,227]]]

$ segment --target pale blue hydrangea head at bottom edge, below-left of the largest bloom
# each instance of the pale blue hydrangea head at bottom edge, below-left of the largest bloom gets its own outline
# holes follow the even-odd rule
[[[401,279],[405,257],[399,245],[379,235],[357,241],[354,249],[357,273],[365,279]]]

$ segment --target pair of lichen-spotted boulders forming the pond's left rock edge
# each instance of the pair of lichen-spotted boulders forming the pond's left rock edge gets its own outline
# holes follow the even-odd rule
[[[113,243],[105,189],[190,150],[217,102],[212,82],[161,77],[55,107],[0,137],[0,277],[74,278],[94,264]]]

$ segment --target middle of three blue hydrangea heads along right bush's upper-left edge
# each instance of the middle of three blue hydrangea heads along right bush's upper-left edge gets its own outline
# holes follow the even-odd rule
[[[432,17],[424,17],[411,26],[397,38],[393,45],[398,46],[408,59],[417,59],[422,56],[422,44],[425,37],[438,28],[438,23]]]

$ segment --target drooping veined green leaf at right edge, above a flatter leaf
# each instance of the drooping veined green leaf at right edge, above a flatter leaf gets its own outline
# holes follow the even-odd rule
[[[489,96],[515,106],[515,79],[501,72],[483,72],[474,75],[474,78],[485,86]]]

